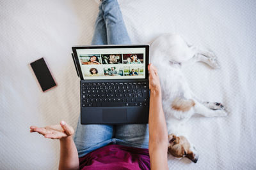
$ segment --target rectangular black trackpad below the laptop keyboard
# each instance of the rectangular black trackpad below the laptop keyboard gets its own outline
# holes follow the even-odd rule
[[[102,110],[103,122],[127,122],[127,109],[103,109]]]

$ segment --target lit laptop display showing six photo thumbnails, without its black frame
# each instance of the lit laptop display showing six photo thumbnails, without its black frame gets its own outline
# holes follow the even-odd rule
[[[76,49],[84,80],[146,78],[146,47]]]

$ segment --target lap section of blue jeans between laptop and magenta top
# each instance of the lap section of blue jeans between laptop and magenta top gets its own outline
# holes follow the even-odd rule
[[[74,136],[79,157],[109,144],[148,148],[148,124],[81,125]]]

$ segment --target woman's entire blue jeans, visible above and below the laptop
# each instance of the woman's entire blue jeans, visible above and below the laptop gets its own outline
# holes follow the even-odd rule
[[[95,22],[92,45],[131,44],[116,0],[103,1]],[[74,142],[79,157],[109,144],[148,148],[148,124],[81,125],[77,123]]]

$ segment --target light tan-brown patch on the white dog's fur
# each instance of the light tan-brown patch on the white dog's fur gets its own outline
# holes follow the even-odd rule
[[[177,97],[172,102],[173,110],[177,111],[189,111],[193,106],[195,106],[195,101],[192,99],[187,100]]]

